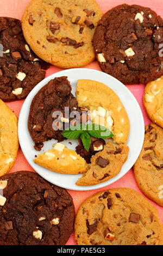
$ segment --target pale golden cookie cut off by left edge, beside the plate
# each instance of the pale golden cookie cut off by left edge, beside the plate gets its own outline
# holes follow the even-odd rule
[[[17,117],[0,100],[0,176],[14,166],[18,147]]]

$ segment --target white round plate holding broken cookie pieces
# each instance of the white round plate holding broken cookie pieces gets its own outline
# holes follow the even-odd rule
[[[101,184],[94,185],[94,186],[77,186],[76,181],[82,176],[82,174],[68,175],[68,174],[55,173],[33,162],[33,160],[35,159],[35,155],[38,155],[39,152],[34,149],[33,147],[34,142],[30,137],[30,134],[28,131],[28,115],[29,115],[30,104],[33,100],[33,97],[36,95],[37,92],[39,92],[39,90],[43,86],[45,86],[50,80],[54,79],[55,77],[60,77],[60,76],[68,77],[68,80],[70,81],[72,86],[72,93],[74,95],[76,93],[77,82],[79,79],[89,79],[89,80],[95,80],[95,81],[104,83],[106,84],[106,86],[114,90],[114,92],[118,95],[118,97],[120,97],[120,100],[123,103],[123,106],[126,108],[126,111],[130,120],[130,133],[129,133],[129,138],[127,142],[127,145],[130,148],[128,159],[126,163],[123,164],[121,172],[117,176]],[[19,137],[20,145],[21,145],[23,154],[26,157],[30,166],[32,166],[33,169],[38,174],[40,174],[44,179],[48,180],[49,182],[57,186],[64,187],[70,190],[79,190],[79,191],[96,190],[97,188],[105,187],[117,181],[118,179],[120,179],[124,174],[128,172],[128,170],[130,170],[130,168],[134,165],[135,161],[137,160],[137,157],[139,156],[140,151],[142,149],[144,135],[145,135],[145,125],[144,125],[143,115],[142,115],[140,106],[137,103],[133,94],[131,94],[128,88],[124,86],[120,81],[116,80],[116,78],[110,75],[107,75],[101,71],[92,70],[92,69],[80,68],[80,69],[63,70],[49,77],[46,77],[39,84],[37,84],[37,86],[27,96],[22,106],[20,117],[18,120],[18,137]],[[55,141],[54,139],[52,139],[51,141],[45,142],[41,152],[47,151],[48,149],[52,149],[52,145],[56,142],[57,141]],[[64,143],[68,148],[71,148],[74,150],[75,147],[77,146],[77,140],[74,141],[73,145],[68,144],[68,142],[70,141],[67,140],[62,143]]]

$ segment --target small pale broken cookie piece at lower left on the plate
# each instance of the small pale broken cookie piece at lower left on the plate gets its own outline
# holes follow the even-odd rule
[[[53,149],[48,150],[34,159],[34,162],[53,172],[64,174],[79,174],[89,169],[89,164],[74,150],[68,149],[62,143],[53,145]]]

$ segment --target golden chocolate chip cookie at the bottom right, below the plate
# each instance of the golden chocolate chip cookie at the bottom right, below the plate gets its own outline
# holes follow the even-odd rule
[[[158,210],[129,188],[101,191],[79,207],[78,245],[163,245]]]

